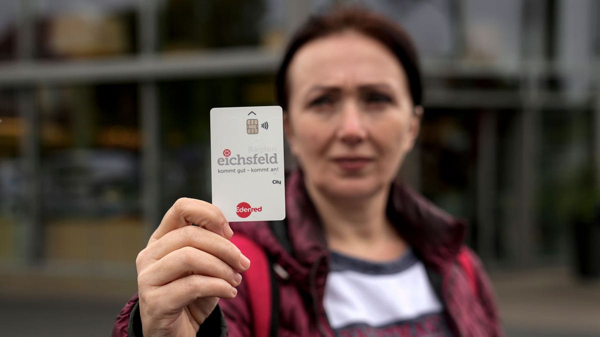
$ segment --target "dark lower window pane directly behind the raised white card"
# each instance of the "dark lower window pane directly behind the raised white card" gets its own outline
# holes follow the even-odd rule
[[[180,197],[211,200],[210,110],[272,105],[273,83],[272,76],[161,83],[163,212]]]

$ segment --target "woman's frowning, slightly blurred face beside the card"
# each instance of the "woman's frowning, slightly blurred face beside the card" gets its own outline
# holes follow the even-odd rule
[[[290,64],[287,140],[309,189],[363,198],[388,188],[419,132],[406,74],[382,44],[343,32]]]

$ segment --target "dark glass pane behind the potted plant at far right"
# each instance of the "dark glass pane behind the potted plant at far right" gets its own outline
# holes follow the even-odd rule
[[[592,118],[592,111],[581,108],[542,112],[536,248],[544,257],[564,252],[565,244],[577,247],[575,222],[598,212]]]

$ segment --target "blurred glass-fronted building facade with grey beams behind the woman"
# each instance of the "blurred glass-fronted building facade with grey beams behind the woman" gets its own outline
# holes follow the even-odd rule
[[[404,178],[491,268],[572,264],[600,198],[600,2],[358,1],[421,53]],[[209,110],[271,105],[289,34],[354,1],[21,0],[0,10],[0,270],[135,275],[210,200]]]

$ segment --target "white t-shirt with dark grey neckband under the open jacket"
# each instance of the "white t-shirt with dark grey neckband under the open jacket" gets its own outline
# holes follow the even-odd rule
[[[332,252],[324,305],[338,336],[452,336],[412,251],[388,263]]]

